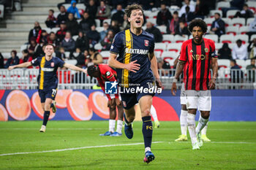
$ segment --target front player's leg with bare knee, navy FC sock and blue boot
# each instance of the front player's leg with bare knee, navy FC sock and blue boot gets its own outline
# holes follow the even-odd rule
[[[143,120],[143,138],[145,146],[145,158],[144,162],[149,163],[154,160],[154,154],[151,152],[151,143],[152,143],[152,134],[153,134],[153,125],[151,121],[151,105],[152,105],[152,96],[143,96],[139,100],[141,118]]]

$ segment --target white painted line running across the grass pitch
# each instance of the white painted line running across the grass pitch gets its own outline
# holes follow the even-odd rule
[[[152,142],[153,144],[162,143],[162,142]],[[89,149],[89,148],[99,148],[99,147],[118,147],[118,146],[130,146],[130,145],[138,145],[138,144],[144,144],[144,143],[135,143],[135,144],[109,144],[109,145],[101,145],[101,146],[91,146],[91,147],[74,147],[74,148],[67,148],[67,149],[61,149],[61,150],[43,150],[43,151],[37,151],[37,152],[15,152],[15,153],[4,153],[0,156],[6,156],[6,155],[24,155],[24,154],[31,154],[31,153],[44,153],[44,152],[62,152],[67,150],[83,150],[83,149]]]

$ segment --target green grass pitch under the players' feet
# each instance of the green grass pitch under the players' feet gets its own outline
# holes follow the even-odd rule
[[[133,139],[99,136],[108,121],[50,120],[39,133],[41,123],[0,123],[0,169],[256,169],[256,122],[209,122],[212,142],[200,150],[192,150],[190,139],[174,142],[178,122],[161,122],[153,132],[156,158],[148,164],[143,163],[141,122],[134,123]]]

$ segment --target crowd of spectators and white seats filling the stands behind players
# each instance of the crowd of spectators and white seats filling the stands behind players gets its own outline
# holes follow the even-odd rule
[[[195,18],[206,21],[206,36],[217,43],[219,59],[232,61],[225,67],[240,69],[236,60],[252,59],[246,68],[255,69],[252,64],[256,58],[256,9],[244,0],[65,0],[56,4],[59,12],[49,9],[48,18],[45,18],[47,28],[35,21],[21,58],[12,50],[10,58],[4,61],[0,53],[0,68],[44,55],[43,48],[48,43],[56,46],[56,57],[63,61],[76,60],[77,66],[86,68],[94,63],[105,63],[108,56],[102,56],[102,52],[110,50],[118,31],[129,28],[124,8],[135,2],[145,10],[143,28],[154,34],[159,69],[173,68],[173,61],[180,51],[178,47],[191,38],[187,26]],[[236,11],[230,15],[229,11],[234,9]],[[233,22],[235,20],[237,22]],[[242,28],[246,28],[245,31]],[[176,47],[172,49],[173,46]],[[219,65],[222,66],[222,62]]]

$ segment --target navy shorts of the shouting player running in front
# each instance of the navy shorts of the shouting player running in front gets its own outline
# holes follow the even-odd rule
[[[153,80],[146,80],[140,83],[140,85],[138,86],[131,86],[129,88],[121,88],[121,90],[119,91],[120,95],[121,95],[121,101],[123,103],[123,107],[124,109],[130,109],[132,108],[135,104],[138,103],[138,101],[140,100],[140,98],[142,98],[143,96],[154,96],[155,91],[154,90],[138,90],[136,91],[136,88],[139,89],[145,89],[145,88],[152,88],[154,86],[154,81]],[[132,88],[135,89],[134,92],[132,92]],[[128,91],[129,90],[129,91]],[[152,92],[153,91],[153,92]],[[138,93],[136,93],[138,92]]]

